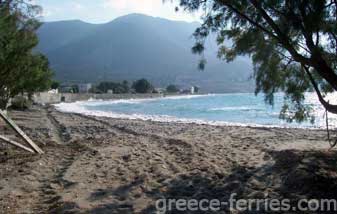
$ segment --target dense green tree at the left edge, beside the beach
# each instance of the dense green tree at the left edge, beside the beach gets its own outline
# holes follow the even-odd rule
[[[8,105],[10,98],[49,89],[52,72],[48,59],[33,53],[38,44],[36,30],[40,27],[35,18],[41,11],[38,6],[19,0],[0,1],[0,108]]]

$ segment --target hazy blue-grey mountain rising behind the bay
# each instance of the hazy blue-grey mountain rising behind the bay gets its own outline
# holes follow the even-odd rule
[[[147,78],[157,87],[198,85],[203,92],[252,91],[252,65],[246,58],[226,64],[208,42],[205,71],[197,69],[192,34],[199,23],[169,21],[141,14],[106,24],[79,20],[44,23],[38,50],[46,54],[63,82],[134,81]]]

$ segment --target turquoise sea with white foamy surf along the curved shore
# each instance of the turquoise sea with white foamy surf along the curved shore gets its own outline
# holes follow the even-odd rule
[[[211,125],[276,126],[299,128],[324,128],[324,109],[316,95],[306,94],[306,104],[311,105],[316,116],[310,122],[287,123],[279,119],[283,94],[275,95],[275,104],[265,104],[263,95],[252,93],[182,95],[154,99],[89,100],[57,104],[63,112],[81,113],[112,118],[143,119],[165,122],[201,123]],[[331,127],[337,118],[329,115]]]

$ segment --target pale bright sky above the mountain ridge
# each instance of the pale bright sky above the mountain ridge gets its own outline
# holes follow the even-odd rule
[[[130,13],[142,13],[179,21],[199,21],[197,14],[175,11],[178,0],[32,0],[43,7],[43,21],[79,19],[89,23],[106,23]]]

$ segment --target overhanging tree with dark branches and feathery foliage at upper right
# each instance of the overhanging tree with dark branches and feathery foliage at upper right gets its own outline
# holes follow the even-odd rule
[[[337,1],[180,0],[180,6],[205,11],[203,24],[194,33],[193,51],[202,53],[212,32],[217,34],[221,59],[250,56],[255,92],[263,92],[269,104],[275,92],[285,92],[281,118],[290,122],[311,118],[304,92],[312,88],[326,110],[337,114],[337,105],[325,97],[337,90]],[[201,60],[201,68],[204,63]]]

